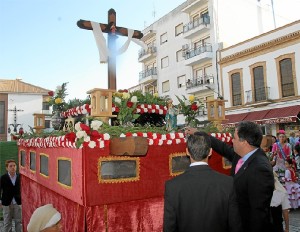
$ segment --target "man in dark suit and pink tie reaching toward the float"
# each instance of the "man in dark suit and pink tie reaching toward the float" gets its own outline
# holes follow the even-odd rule
[[[188,129],[189,134],[194,129]],[[243,231],[270,231],[270,203],[274,189],[271,164],[260,149],[262,131],[254,122],[240,122],[233,147],[211,137],[212,149],[232,162],[231,175],[242,217]]]

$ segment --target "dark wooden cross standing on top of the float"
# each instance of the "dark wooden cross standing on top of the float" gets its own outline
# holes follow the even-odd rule
[[[111,55],[108,57],[108,88],[117,89],[116,84],[116,35],[128,36],[128,29],[125,27],[116,26],[116,11],[110,9],[108,11],[108,23],[99,23],[102,32],[107,33],[108,49],[111,51]],[[81,29],[93,30],[91,21],[79,20],[77,26]],[[132,38],[141,39],[143,33],[134,30]]]

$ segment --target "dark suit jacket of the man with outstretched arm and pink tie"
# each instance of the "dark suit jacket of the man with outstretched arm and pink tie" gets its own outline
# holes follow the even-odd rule
[[[243,231],[270,231],[270,203],[274,189],[273,170],[263,150],[258,148],[234,174],[240,159],[233,147],[211,137],[212,148],[232,162],[231,175],[237,194]]]

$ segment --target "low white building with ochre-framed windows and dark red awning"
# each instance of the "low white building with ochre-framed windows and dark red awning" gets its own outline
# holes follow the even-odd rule
[[[227,122],[256,121],[266,134],[300,129],[300,21],[220,51]]]

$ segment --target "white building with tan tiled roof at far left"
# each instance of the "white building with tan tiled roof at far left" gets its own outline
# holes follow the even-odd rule
[[[34,127],[33,114],[49,114],[49,91],[20,79],[0,79],[0,140],[10,141],[10,132],[19,132],[21,127],[29,132]],[[50,127],[50,116],[45,125]]]

